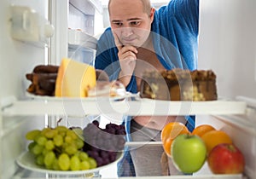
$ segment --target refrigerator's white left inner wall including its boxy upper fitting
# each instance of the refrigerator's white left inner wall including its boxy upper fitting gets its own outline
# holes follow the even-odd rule
[[[26,72],[32,72],[34,66],[48,61],[49,44],[44,40],[49,39],[38,37],[43,29],[41,25],[45,25],[41,22],[49,21],[48,1],[3,0],[0,4],[2,23],[0,28],[0,113],[2,113],[3,107],[9,106],[11,101],[26,98],[26,88],[29,85],[25,78]],[[17,34],[20,36],[16,36]],[[30,118],[32,122],[28,122],[29,118],[24,117],[2,118],[2,115],[0,116],[0,177],[14,178],[16,171],[19,170],[15,159],[26,148],[24,133],[32,128],[44,126],[44,116]]]

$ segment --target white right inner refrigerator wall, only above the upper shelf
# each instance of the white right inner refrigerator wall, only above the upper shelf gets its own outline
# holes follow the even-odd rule
[[[217,74],[218,96],[256,98],[256,1],[201,0],[199,68]]]

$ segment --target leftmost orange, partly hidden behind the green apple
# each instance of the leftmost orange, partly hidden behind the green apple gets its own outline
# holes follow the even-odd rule
[[[172,122],[166,124],[161,131],[161,141],[163,143],[164,150],[168,156],[171,156],[172,141],[181,134],[189,134],[188,128],[179,122]]]

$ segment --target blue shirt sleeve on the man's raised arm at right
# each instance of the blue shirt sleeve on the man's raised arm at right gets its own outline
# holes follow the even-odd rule
[[[171,0],[154,14],[154,49],[166,69],[197,67],[199,0]]]

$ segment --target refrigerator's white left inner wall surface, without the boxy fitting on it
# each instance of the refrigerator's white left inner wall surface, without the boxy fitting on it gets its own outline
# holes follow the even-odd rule
[[[48,1],[38,0],[2,0],[0,5],[0,101],[8,96],[25,99],[29,81],[26,73],[32,72],[34,66],[47,61],[47,49],[31,43],[15,40],[11,37],[11,5],[26,6],[34,9],[44,18],[48,17]],[[1,106],[1,105],[0,105]],[[0,107],[2,110],[2,107]],[[0,178],[13,178],[17,170],[15,158],[24,151],[26,130],[44,126],[44,116],[39,120],[26,123],[26,118],[0,117]]]

